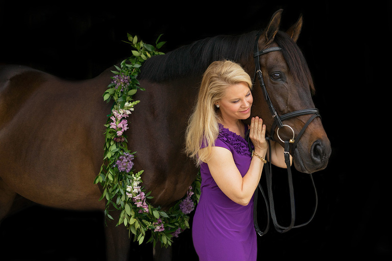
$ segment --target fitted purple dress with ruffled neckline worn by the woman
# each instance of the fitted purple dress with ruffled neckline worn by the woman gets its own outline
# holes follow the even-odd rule
[[[247,125],[244,130],[248,131]],[[247,173],[251,164],[251,152],[245,139],[219,124],[215,146],[230,150],[241,175]],[[254,196],[247,206],[237,204],[219,189],[206,163],[202,163],[200,172],[201,196],[192,223],[193,246],[199,260],[256,260]]]

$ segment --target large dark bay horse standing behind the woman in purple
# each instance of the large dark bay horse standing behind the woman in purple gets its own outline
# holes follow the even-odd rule
[[[144,170],[143,185],[152,191],[153,205],[168,208],[185,195],[197,174],[182,152],[184,130],[202,74],[212,61],[235,61],[252,77],[255,41],[260,50],[280,46],[281,51],[257,58],[277,114],[314,108],[312,78],[296,44],[302,16],[282,32],[281,13],[278,10],[259,35],[210,37],[143,63],[138,80],[145,91],[134,96],[141,102],[129,117],[126,135],[128,147],[137,151],[134,168]],[[104,210],[106,202],[98,200],[102,190],[93,180],[103,161],[104,124],[111,105],[102,95],[113,69],[85,81],[63,80],[17,65],[0,69],[0,220],[16,211],[21,200],[66,210]],[[260,116],[271,129],[274,119],[258,82],[251,116]],[[298,135],[309,117],[289,118],[284,124]],[[276,136],[277,129],[267,135],[274,135],[271,132]],[[282,139],[291,136],[288,128],[279,133]],[[331,145],[320,118],[307,126],[291,154],[300,172],[313,173],[327,166]],[[105,228],[107,260],[128,260],[128,231],[116,223],[108,221]],[[164,260],[165,253],[155,250],[154,258]]]

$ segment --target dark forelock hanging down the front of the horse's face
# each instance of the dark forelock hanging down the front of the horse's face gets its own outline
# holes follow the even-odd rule
[[[300,82],[303,86],[309,86],[310,91],[314,93],[314,84],[309,67],[306,63],[302,51],[297,43],[282,31],[278,31],[275,35],[275,42],[282,47],[283,57],[287,66],[294,77],[295,81]]]

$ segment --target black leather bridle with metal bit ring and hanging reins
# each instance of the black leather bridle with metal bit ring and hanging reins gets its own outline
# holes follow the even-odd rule
[[[257,223],[257,192],[258,189],[256,189],[255,191],[255,200],[254,200],[254,210],[253,210],[253,217],[254,217],[254,225],[255,225],[255,230],[256,232],[259,234],[259,236],[263,236],[269,229],[269,216],[271,215],[272,219],[273,219],[273,223],[275,226],[275,229],[280,232],[287,232],[288,230],[290,230],[291,228],[297,228],[297,227],[302,227],[307,225],[314,217],[316,210],[317,210],[317,191],[314,185],[314,180],[312,177],[312,174],[310,174],[310,178],[312,181],[312,185],[314,188],[314,194],[315,194],[315,208],[314,208],[314,212],[312,214],[312,216],[310,217],[310,219],[301,224],[301,225],[295,225],[295,220],[296,220],[296,209],[295,209],[295,198],[294,198],[294,190],[293,190],[293,184],[292,184],[292,175],[291,175],[291,166],[290,166],[290,153],[292,154],[294,152],[294,149],[297,146],[298,141],[300,140],[302,134],[305,132],[305,129],[307,128],[307,126],[310,124],[310,122],[315,119],[316,117],[321,117],[320,113],[318,112],[318,109],[304,109],[304,110],[298,110],[298,111],[293,111],[287,114],[284,114],[282,116],[279,116],[278,113],[276,112],[271,99],[269,99],[268,96],[268,92],[265,88],[265,84],[264,84],[264,80],[263,80],[263,74],[261,72],[260,69],[260,62],[259,62],[259,56],[267,54],[271,51],[281,51],[282,48],[281,47],[269,47],[266,49],[263,49],[261,51],[259,51],[259,45],[258,45],[258,40],[259,37],[261,35],[261,32],[258,32],[258,34],[256,35],[256,42],[255,42],[255,47],[254,47],[254,59],[255,59],[255,75],[253,77],[253,83],[255,82],[255,78],[257,75],[257,78],[259,80],[259,84],[260,87],[262,89],[263,95],[264,95],[264,99],[268,105],[269,111],[271,112],[271,115],[274,119],[274,123],[272,124],[271,127],[271,137],[265,137],[265,139],[268,141],[268,146],[269,148],[271,148],[271,140],[274,141],[274,132],[275,132],[275,128],[278,127],[277,130],[277,136],[279,138],[280,141],[284,142],[284,159],[285,159],[285,163],[287,166],[287,175],[288,175],[288,186],[289,186],[289,195],[290,195],[290,208],[291,208],[291,222],[290,225],[285,227],[285,226],[281,226],[278,224],[277,219],[276,219],[276,213],[275,213],[275,206],[274,206],[274,199],[273,199],[273,192],[272,192],[272,164],[271,164],[271,149],[269,149],[269,161],[267,162],[267,166],[265,166],[264,170],[265,170],[265,176],[266,176],[266,184],[267,184],[267,190],[268,190],[268,198],[269,198],[269,202],[265,196],[265,193],[263,191],[263,188],[261,186],[261,183],[259,182],[258,184],[258,188],[261,192],[261,194],[263,195],[264,201],[265,201],[265,205],[266,205],[266,211],[267,211],[267,224],[266,227],[264,229],[264,231],[261,231],[258,223]],[[295,137],[295,133],[293,131],[293,129],[289,126],[289,125],[285,125],[282,122],[284,120],[293,118],[293,117],[298,117],[298,116],[302,116],[302,115],[308,115],[308,114],[313,114],[308,121],[305,123],[305,125],[303,126],[303,128],[301,129],[301,131],[298,133],[297,137]],[[292,138],[289,140],[282,140],[281,137],[279,136],[279,129],[280,128],[290,128],[292,131]],[[249,134],[248,134],[248,144],[250,147],[250,138],[249,138]],[[250,150],[252,151],[251,147]],[[270,214],[271,211],[271,214]]]

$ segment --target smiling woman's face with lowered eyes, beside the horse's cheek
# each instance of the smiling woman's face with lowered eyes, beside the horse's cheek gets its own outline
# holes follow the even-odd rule
[[[224,97],[217,102],[224,120],[249,118],[252,103],[253,96],[245,82],[227,87]]]

